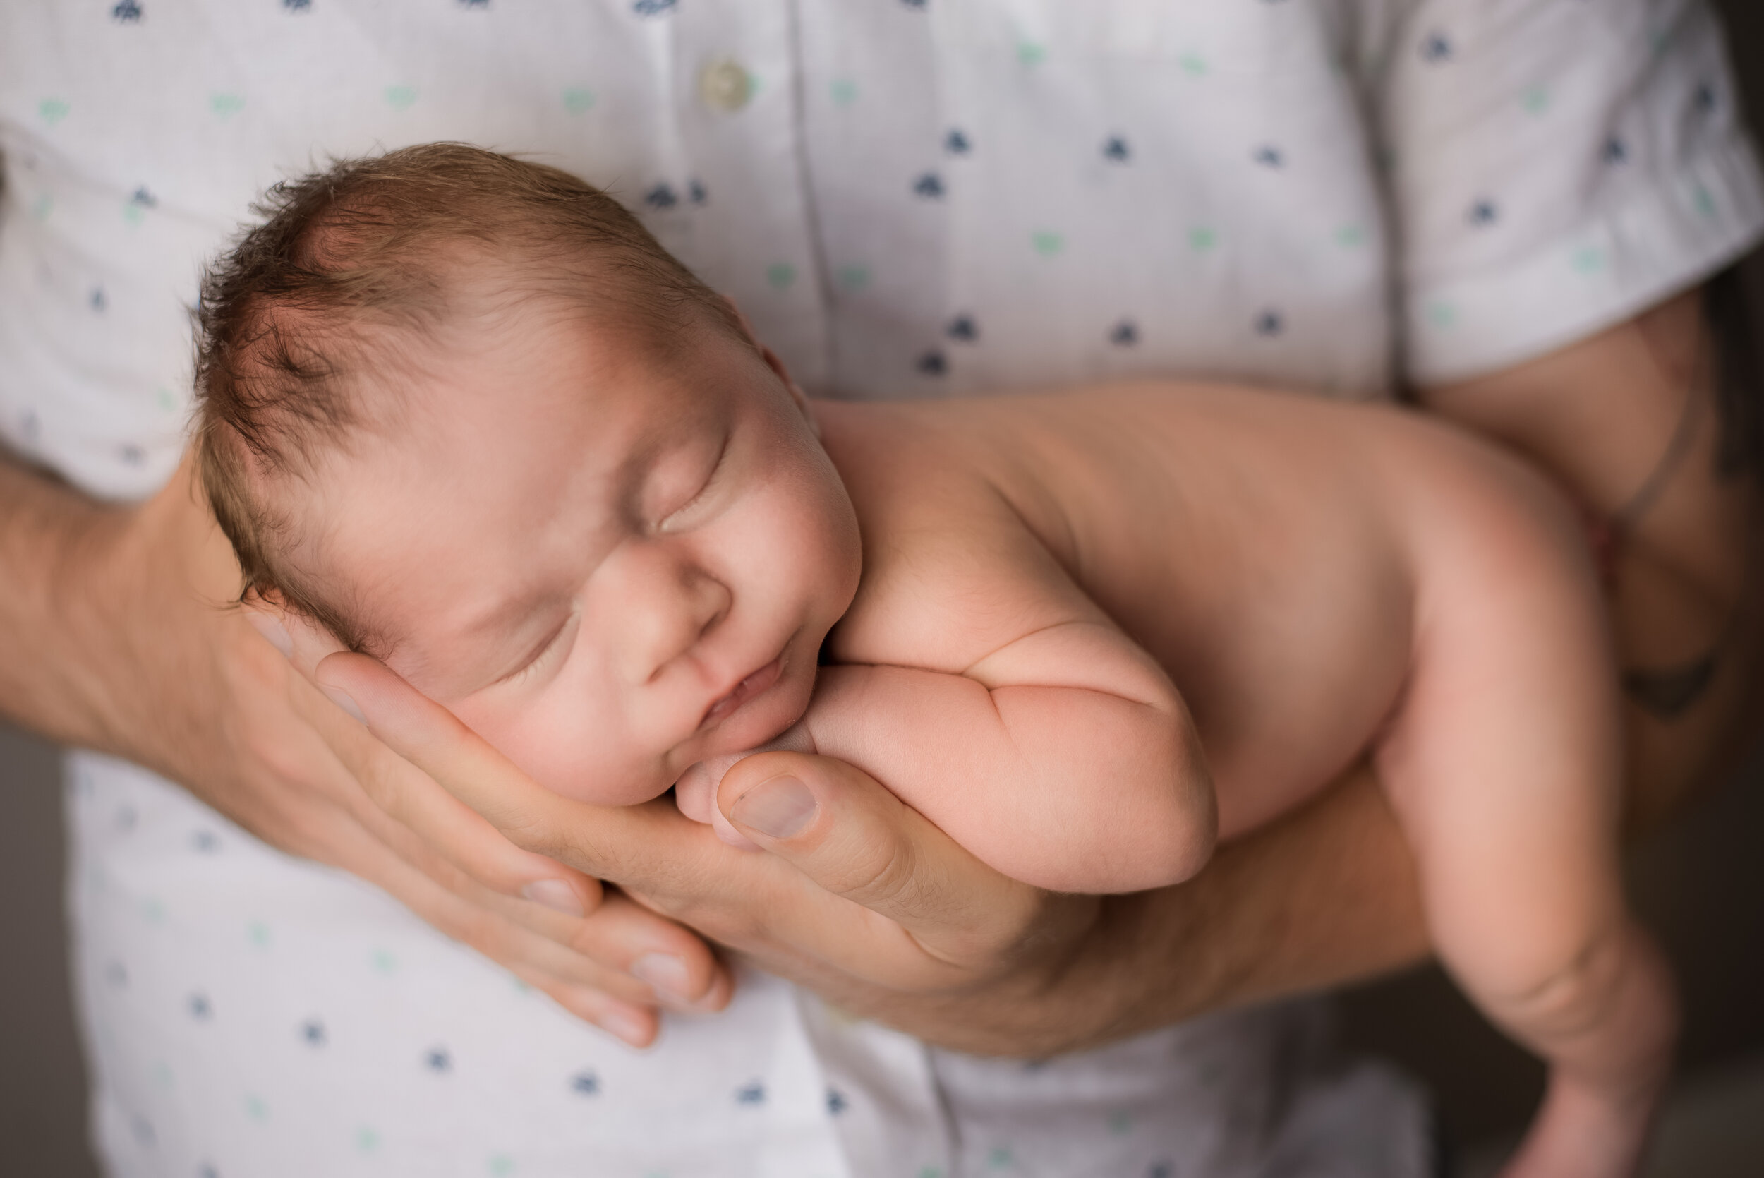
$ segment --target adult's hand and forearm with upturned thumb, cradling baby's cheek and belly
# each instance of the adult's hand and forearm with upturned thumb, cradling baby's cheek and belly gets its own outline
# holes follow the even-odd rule
[[[367,656],[332,654],[318,681],[406,758],[367,788],[411,825],[457,797],[845,1010],[956,1049],[1078,1049],[1424,951],[1408,854],[1364,776],[1182,887],[1058,896],[986,868],[833,758],[760,753],[723,778],[718,804],[757,854],[669,799],[598,808],[542,788]]]

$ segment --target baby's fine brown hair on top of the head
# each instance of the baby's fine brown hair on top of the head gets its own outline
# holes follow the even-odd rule
[[[288,568],[288,517],[263,483],[298,478],[363,423],[360,377],[395,367],[395,344],[437,335],[450,279],[483,275],[489,259],[517,303],[575,305],[658,339],[693,321],[746,339],[734,309],[616,199],[464,143],[339,160],[277,183],[252,212],[263,222],[203,275],[198,476],[245,593],[277,596],[353,649],[369,645],[355,610]]]

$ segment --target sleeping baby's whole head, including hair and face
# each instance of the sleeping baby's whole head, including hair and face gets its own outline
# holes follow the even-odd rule
[[[609,804],[808,705],[857,587],[801,393],[614,199],[460,145],[279,185],[203,282],[247,594]]]

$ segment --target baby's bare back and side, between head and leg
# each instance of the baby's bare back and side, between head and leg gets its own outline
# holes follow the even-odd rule
[[[1508,474],[1399,409],[1244,388],[820,416],[866,536],[834,658],[946,665],[912,651],[916,594],[947,573],[981,608],[975,584],[1023,577],[997,533],[1027,531],[1175,681],[1226,838],[1367,749],[1409,672],[1427,536]]]

